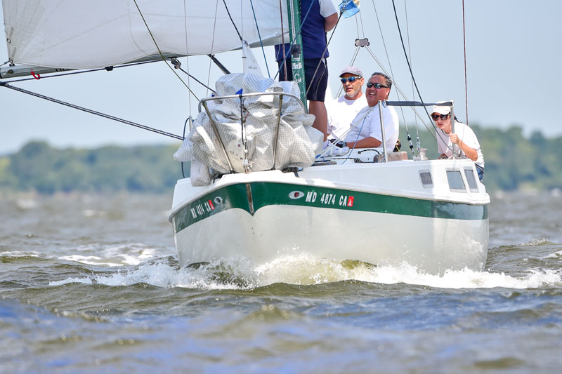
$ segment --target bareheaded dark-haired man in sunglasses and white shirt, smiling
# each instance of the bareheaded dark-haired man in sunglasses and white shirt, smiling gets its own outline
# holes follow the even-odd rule
[[[351,131],[346,136],[347,147],[377,148],[382,144],[379,100],[388,100],[392,80],[384,73],[373,73],[367,82],[365,98],[368,107],[360,110],[351,122]],[[387,152],[392,152],[398,140],[398,114],[393,107],[383,104],[382,108],[385,144]]]

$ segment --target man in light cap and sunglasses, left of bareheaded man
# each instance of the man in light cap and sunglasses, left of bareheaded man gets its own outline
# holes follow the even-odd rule
[[[365,83],[361,69],[348,66],[341,71],[339,79],[345,94],[327,103],[328,112],[328,137],[343,139],[348,131],[351,121],[359,111],[367,106],[367,100],[362,93]]]

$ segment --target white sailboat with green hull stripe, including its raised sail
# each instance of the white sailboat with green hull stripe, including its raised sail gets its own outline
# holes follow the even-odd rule
[[[3,0],[10,65],[0,84],[142,60],[176,65],[182,56],[236,49],[251,60],[252,47],[298,39],[292,3]],[[201,100],[192,141],[184,140],[192,173],[176,183],[169,212],[182,266],[308,253],[430,273],[483,269],[490,198],[473,161],[408,159],[386,147],[322,153],[302,86],[261,79],[248,66],[218,80]]]

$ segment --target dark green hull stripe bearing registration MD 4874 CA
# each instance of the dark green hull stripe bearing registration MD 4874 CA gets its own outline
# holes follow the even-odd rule
[[[488,206],[412,199],[400,196],[370,194],[346,189],[273,182],[250,183],[250,205],[246,184],[229,185],[218,189],[183,207],[174,215],[174,231],[181,232],[195,222],[228,209],[238,208],[253,214],[271,205],[332,208],[342,211],[361,211],[413,215],[417,217],[457,220],[485,220]],[[252,209],[253,208],[253,209]]]

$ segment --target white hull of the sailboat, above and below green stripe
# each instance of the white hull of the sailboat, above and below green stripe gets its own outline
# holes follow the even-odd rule
[[[480,183],[478,192],[468,188],[465,192],[451,192],[445,171],[454,168],[473,168],[473,163],[440,160],[314,166],[299,172],[299,177],[280,171],[224,175],[207,187],[191,187],[189,180],[178,181],[170,220],[174,222],[180,263],[235,257],[261,264],[285,254],[310,253],[318,258],[360,260],[374,265],[407,262],[431,273],[464,267],[481,270],[488,253],[489,197]],[[420,170],[431,170],[435,187],[422,186]],[[387,178],[387,173],[393,178]],[[330,179],[318,178],[322,175]],[[362,184],[355,178],[360,178]],[[235,203],[209,215],[200,208],[193,213],[202,215],[197,222],[178,229],[176,213],[201,196],[211,196],[213,192],[221,195],[228,186],[260,182],[270,183],[264,188],[282,196],[272,198],[271,203],[259,203],[258,196],[253,196],[259,205],[253,215],[251,209],[237,208]],[[438,187],[443,185],[446,188]],[[287,187],[282,190],[285,192],[318,190],[317,199],[322,197],[322,191],[328,191],[327,203],[318,206],[316,201],[313,205],[311,196],[301,196],[296,199],[299,203],[291,199],[283,203],[283,187]],[[351,194],[357,210],[346,209],[346,199]],[[224,201],[217,201],[227,204],[228,196],[221,196]],[[394,200],[389,200],[389,209],[370,210],[369,206],[359,205],[368,199],[375,199],[375,205],[384,203],[384,199]],[[424,206],[434,201],[438,201],[441,212],[424,213]],[[214,203],[213,208],[219,207]],[[394,208],[396,211],[392,211]],[[466,213],[469,211],[483,213],[475,216],[473,212]]]

